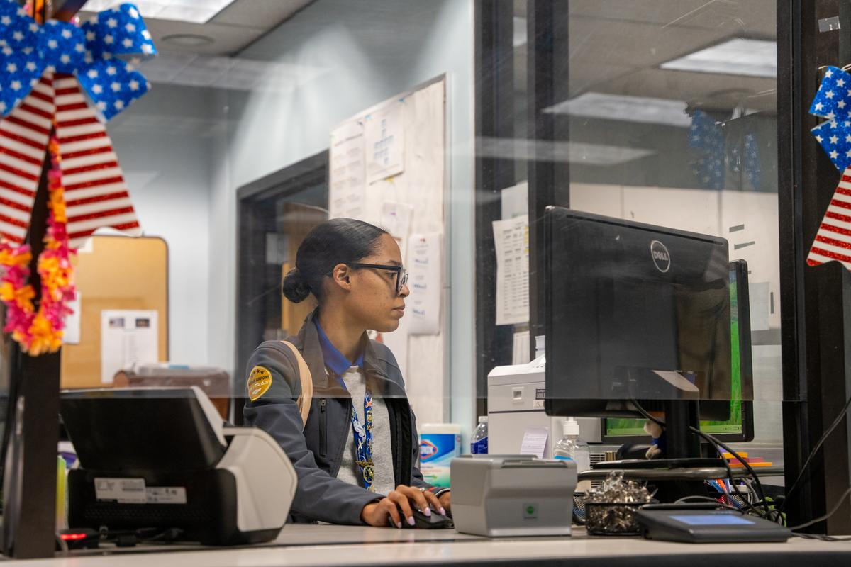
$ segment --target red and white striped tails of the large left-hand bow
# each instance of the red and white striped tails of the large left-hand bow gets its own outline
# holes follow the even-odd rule
[[[24,102],[0,121],[0,236],[15,244],[26,238],[54,116],[71,248],[105,226],[140,235],[106,127],[76,78],[45,73]]]

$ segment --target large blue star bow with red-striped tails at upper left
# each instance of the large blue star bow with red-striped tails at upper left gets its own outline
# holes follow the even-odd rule
[[[71,247],[102,226],[140,234],[103,122],[148,91],[131,63],[156,53],[132,4],[80,27],[39,26],[14,0],[0,0],[0,236],[26,238],[52,132]]]

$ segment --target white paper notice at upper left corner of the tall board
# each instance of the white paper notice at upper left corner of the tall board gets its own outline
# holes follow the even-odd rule
[[[363,218],[364,167],[363,124],[346,122],[331,132],[330,218]]]

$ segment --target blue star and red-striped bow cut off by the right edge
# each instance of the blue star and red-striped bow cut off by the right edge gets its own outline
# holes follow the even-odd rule
[[[851,74],[828,67],[809,112],[827,119],[812,132],[842,176],[810,247],[807,264],[837,261],[851,270]]]

